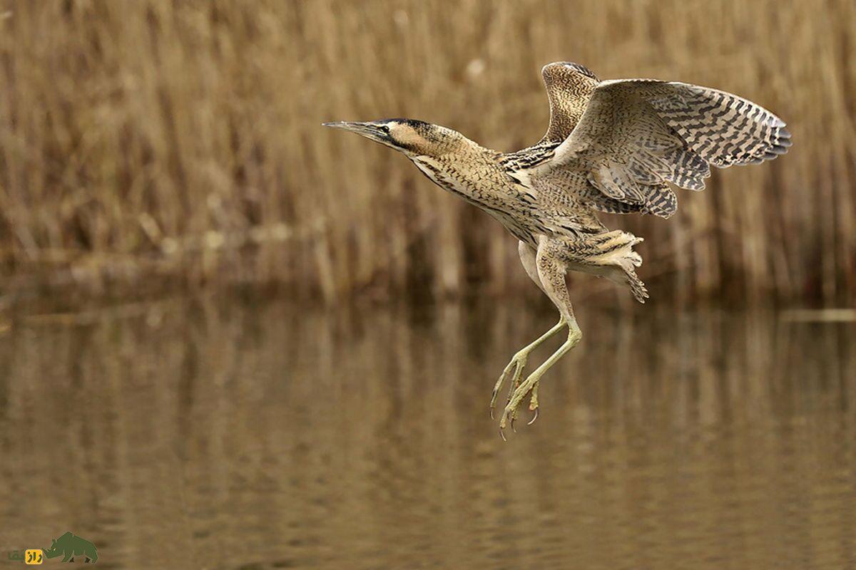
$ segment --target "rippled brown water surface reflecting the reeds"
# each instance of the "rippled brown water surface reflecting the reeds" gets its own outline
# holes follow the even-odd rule
[[[0,554],[70,530],[98,567],[853,567],[852,324],[582,309],[503,444],[490,389],[553,320],[176,301],[16,321]]]

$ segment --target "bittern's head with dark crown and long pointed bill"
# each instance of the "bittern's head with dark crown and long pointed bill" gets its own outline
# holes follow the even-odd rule
[[[342,120],[324,123],[324,126],[356,132],[411,157],[442,154],[462,138],[458,132],[445,126],[414,119]]]

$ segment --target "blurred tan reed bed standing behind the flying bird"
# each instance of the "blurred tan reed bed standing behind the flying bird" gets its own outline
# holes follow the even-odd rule
[[[669,221],[605,220],[646,238],[654,297],[856,294],[850,0],[0,4],[3,291],[537,296],[496,222],[320,123],[410,116],[514,150],[546,126],[541,66],[570,60],[734,91],[794,133]]]

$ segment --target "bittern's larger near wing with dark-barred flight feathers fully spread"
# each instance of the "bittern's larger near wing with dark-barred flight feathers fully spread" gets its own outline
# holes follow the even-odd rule
[[[774,159],[787,152],[790,137],[776,115],[724,91],[654,79],[603,81],[537,176],[557,183],[581,173],[604,209],[624,203],[669,217],[677,202],[667,182],[703,190],[710,164]]]

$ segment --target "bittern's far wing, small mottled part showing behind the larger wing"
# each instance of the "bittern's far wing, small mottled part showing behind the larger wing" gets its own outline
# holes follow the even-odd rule
[[[550,100],[550,126],[538,144],[561,143],[568,138],[586,110],[597,87],[594,73],[579,63],[548,63],[541,69]]]

